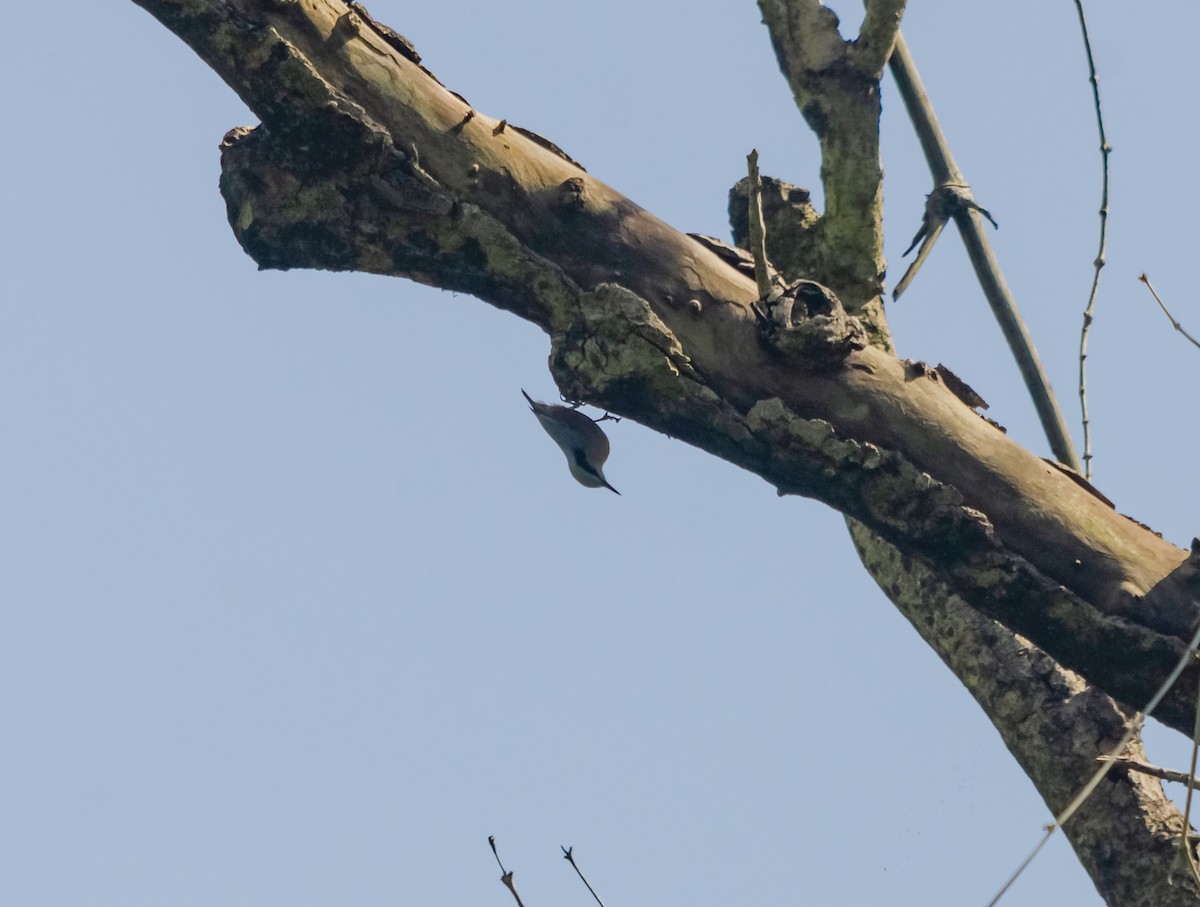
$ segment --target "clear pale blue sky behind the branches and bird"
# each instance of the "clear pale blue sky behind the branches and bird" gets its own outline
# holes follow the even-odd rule
[[[749,0],[370,8],[680,229],[727,236],[751,148],[818,188]],[[1200,352],[1135,278],[1200,331],[1200,7],[1091,16],[1097,483],[1187,545]],[[905,34],[1078,434],[1073,5],[926,0]],[[521,398],[554,397],[538,329],[259,272],[217,192],[256,120],[132,2],[40,7],[0,73],[0,902],[505,907],[493,834],[528,907],[589,903],[559,845],[610,907],[982,905],[1037,841],[1045,806],[836,513],[628,420],[623,497],[584,489]],[[894,282],[930,178],[889,82],[883,130]],[[890,318],[1045,451],[953,232]],[[1099,899],[1058,837],[1006,903]]]

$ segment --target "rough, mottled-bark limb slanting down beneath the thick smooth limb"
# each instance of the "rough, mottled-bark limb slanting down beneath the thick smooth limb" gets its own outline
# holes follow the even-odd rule
[[[1084,787],[1096,758],[1121,739],[1126,715],[1054,659],[988,620],[924,565],[860,525],[851,535],[888,597],[970,690],[1054,815]],[[1130,747],[1141,759],[1141,743]],[[1063,827],[1106,903],[1194,905],[1190,876],[1172,872],[1183,817],[1145,775],[1115,770]],[[1031,829],[1032,835],[1032,829]],[[994,879],[996,884],[1001,879]]]

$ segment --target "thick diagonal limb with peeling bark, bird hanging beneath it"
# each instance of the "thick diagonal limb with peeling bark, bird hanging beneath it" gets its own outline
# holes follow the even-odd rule
[[[1186,553],[932,370],[870,347],[814,367],[768,344],[749,278],[473,112],[335,0],[139,1],[263,118],[227,140],[222,191],[264,266],[395,274],[504,306],[550,332],[571,396],[862,519],[1114,696],[1141,702],[1170,669],[1198,613]],[[1190,699],[1174,693],[1163,720],[1190,728]]]

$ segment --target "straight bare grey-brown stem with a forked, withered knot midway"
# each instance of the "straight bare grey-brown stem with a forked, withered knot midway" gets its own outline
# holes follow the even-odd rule
[[[892,52],[888,66],[896,80],[896,88],[900,90],[900,97],[908,110],[908,118],[913,122],[917,137],[920,139],[925,161],[934,174],[934,185],[961,184],[966,186],[966,178],[954,162],[954,156],[950,154],[946,136],[942,134],[937,118],[934,115],[932,104],[925,95],[925,86],[920,83],[917,66],[912,61],[902,34],[896,35],[895,49]],[[970,198],[970,191],[965,192]],[[962,242],[967,248],[984,296],[988,299],[988,305],[991,306],[992,314],[1000,322],[1004,340],[1008,341],[1008,348],[1016,360],[1018,368],[1021,370],[1021,377],[1033,398],[1033,406],[1042,420],[1042,430],[1050,443],[1050,450],[1054,451],[1060,463],[1079,471],[1079,457],[1075,455],[1075,445],[1070,440],[1067,422],[1058,408],[1058,401],[1050,389],[1050,379],[1046,378],[1042,360],[1038,358],[1030,332],[1025,328],[1025,322],[1021,320],[1020,312],[1016,310],[1016,301],[1004,283],[1004,276],[1001,274],[995,254],[992,254],[988,235],[983,232],[979,215],[972,208],[962,206],[955,212],[954,222],[962,235]]]

